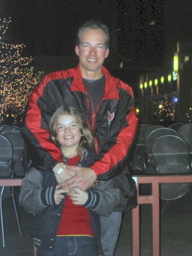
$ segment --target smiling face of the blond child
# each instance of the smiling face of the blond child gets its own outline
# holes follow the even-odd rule
[[[57,120],[57,140],[62,148],[77,152],[81,139],[80,126],[74,116],[61,115]]]

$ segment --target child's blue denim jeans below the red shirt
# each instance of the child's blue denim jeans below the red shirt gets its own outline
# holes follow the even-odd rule
[[[91,236],[58,236],[55,249],[37,249],[37,256],[99,256],[96,240]]]

